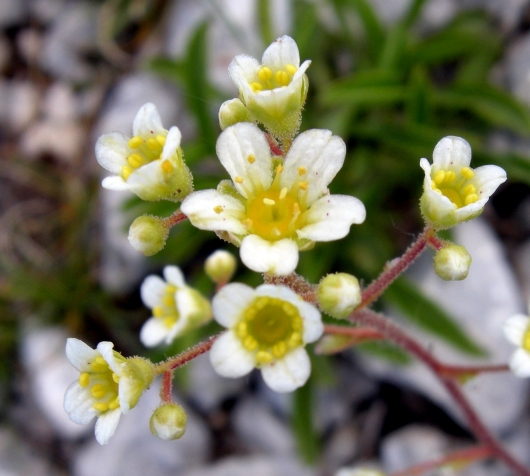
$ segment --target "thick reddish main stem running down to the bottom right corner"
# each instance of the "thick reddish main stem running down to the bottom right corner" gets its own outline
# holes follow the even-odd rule
[[[515,460],[484,426],[454,379],[440,372],[440,362],[438,362],[427,349],[424,349],[389,319],[374,311],[363,309],[352,313],[351,318],[356,322],[378,330],[386,339],[398,344],[400,347],[424,362],[425,365],[427,365],[438,377],[453,400],[459,405],[471,431],[475,434],[475,437],[491,449],[492,455],[504,461],[504,463],[517,474],[520,476],[530,476],[530,470]]]

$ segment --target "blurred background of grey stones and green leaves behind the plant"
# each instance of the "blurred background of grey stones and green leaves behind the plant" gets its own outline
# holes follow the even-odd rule
[[[442,282],[428,251],[377,307],[449,363],[507,362],[502,322],[530,296],[530,1],[0,0],[0,475],[327,476],[365,462],[392,472],[473,443],[433,377],[383,343],[315,356],[292,395],[259,374],[222,379],[198,358],[175,377],[189,415],[179,441],[149,433],[158,383],[107,446],[62,410],[78,375],[67,337],[173,355],[218,328],[142,348],[140,283],[177,264],[211,296],[204,259],[220,247],[237,255],[189,223],[155,257],[134,251],[132,220],[175,204],[103,190],[95,140],[130,135],[153,102],[165,127],[182,131],[195,188],[214,187],[227,178],[217,112],[237,95],[228,64],[259,59],[283,34],[312,60],[302,130],[331,129],[348,146],[331,191],[368,212],[344,240],[302,253],[298,272],[369,283],[423,227],[420,158],[446,135],[464,137],[473,167],[497,164],[509,177],[480,219],[444,236],[472,255],[468,279]],[[261,281],[241,265],[235,279]],[[465,389],[530,465],[527,382],[487,375]],[[509,475],[495,462],[443,474]]]

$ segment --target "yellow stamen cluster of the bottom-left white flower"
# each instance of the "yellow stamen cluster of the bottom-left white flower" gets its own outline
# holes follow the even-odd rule
[[[110,369],[109,364],[101,356],[90,363],[89,372],[82,372],[79,376],[79,385],[90,388],[90,395],[96,400],[92,407],[99,413],[120,407],[119,381],[120,377]]]

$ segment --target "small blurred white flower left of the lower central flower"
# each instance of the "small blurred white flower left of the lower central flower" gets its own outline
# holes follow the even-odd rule
[[[144,304],[152,309],[140,331],[140,340],[146,347],[165,341],[194,329],[212,317],[210,303],[195,289],[186,285],[182,272],[176,266],[164,268],[165,281],[155,275],[145,278],[140,288]]]

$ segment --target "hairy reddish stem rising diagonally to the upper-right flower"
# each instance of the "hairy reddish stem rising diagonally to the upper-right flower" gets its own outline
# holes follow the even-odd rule
[[[376,301],[379,296],[383,294],[385,289],[388,288],[388,286],[390,286],[390,284],[392,284],[392,282],[422,253],[427,244],[427,240],[433,236],[433,234],[434,231],[432,228],[426,228],[400,258],[390,261],[379,277],[363,290],[362,301],[358,309],[369,306]]]

